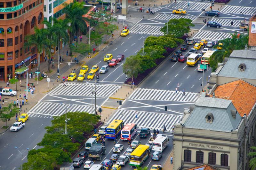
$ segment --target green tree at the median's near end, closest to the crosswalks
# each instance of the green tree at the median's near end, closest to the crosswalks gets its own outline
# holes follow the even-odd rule
[[[123,72],[126,73],[129,77],[131,77],[132,81],[133,77],[137,78],[141,70],[140,62],[141,58],[139,55],[130,56],[125,60],[125,63],[123,65]]]

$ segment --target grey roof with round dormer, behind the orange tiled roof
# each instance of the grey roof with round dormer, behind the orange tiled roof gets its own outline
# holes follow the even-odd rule
[[[244,72],[240,72],[238,66],[244,63],[246,68]],[[256,79],[256,59],[245,58],[229,58],[227,63],[220,70],[218,76],[234,77],[244,79]]]

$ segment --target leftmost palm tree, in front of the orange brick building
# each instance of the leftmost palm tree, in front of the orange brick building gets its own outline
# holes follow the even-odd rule
[[[36,46],[38,52],[38,70],[40,70],[40,55],[43,51],[47,52],[49,50],[48,46],[50,45],[50,40],[47,38],[47,35],[47,29],[39,29],[38,27],[35,27],[35,34],[25,36],[25,48]]]

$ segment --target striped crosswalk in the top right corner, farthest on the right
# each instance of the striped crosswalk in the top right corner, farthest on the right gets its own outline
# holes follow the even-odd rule
[[[256,13],[256,7],[225,5],[220,12],[239,14],[240,11],[246,15],[254,15]]]

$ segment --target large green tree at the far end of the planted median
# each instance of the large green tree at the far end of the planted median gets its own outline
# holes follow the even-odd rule
[[[186,33],[190,32],[190,27],[194,27],[191,19],[180,18],[180,19],[170,19],[168,21],[168,34],[173,35],[176,38],[180,38]],[[161,31],[166,35],[167,23],[161,28]]]

